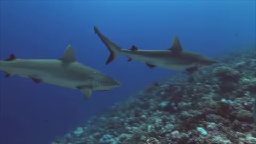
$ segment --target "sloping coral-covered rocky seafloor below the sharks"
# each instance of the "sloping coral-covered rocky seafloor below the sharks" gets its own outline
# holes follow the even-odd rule
[[[233,52],[116,103],[52,144],[256,143],[256,52]]]

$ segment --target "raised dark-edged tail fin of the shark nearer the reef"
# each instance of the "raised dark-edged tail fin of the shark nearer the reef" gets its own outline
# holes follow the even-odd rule
[[[121,53],[121,48],[115,44],[114,42],[110,41],[106,36],[100,33],[98,28],[94,26],[95,33],[100,37],[101,41],[108,47],[108,50],[110,51],[110,55],[108,60],[106,61],[106,65],[116,59],[120,53]]]

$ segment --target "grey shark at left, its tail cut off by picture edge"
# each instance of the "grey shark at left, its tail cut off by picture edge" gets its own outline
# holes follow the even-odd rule
[[[6,73],[5,77],[19,75],[37,84],[45,82],[80,90],[85,99],[91,97],[93,90],[107,91],[122,86],[115,79],[77,62],[71,45],[59,59],[18,59],[11,54],[0,61],[0,70]]]

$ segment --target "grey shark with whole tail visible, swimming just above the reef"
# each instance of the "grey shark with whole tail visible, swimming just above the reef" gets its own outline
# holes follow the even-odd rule
[[[174,36],[172,45],[167,50],[141,50],[134,45],[131,49],[121,49],[103,35],[97,27],[94,26],[94,30],[110,51],[106,65],[119,55],[125,55],[128,57],[127,61],[139,60],[145,62],[149,68],[161,67],[171,70],[186,70],[189,73],[196,74],[198,69],[217,63],[215,60],[201,54],[183,50],[177,36]]]

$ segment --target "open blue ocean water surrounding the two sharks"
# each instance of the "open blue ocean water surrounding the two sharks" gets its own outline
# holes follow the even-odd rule
[[[123,48],[168,49],[177,35],[183,49],[211,58],[255,45],[255,1],[1,1],[0,59],[57,59],[67,45],[84,65],[123,83],[118,89],[81,92],[35,84],[18,76],[1,85],[1,143],[50,143],[143,86],[177,71],[149,69],[119,57],[109,65],[93,26]]]

